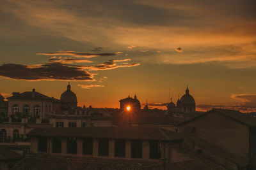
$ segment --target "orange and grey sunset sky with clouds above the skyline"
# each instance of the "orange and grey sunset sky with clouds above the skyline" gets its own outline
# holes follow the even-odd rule
[[[0,1],[1,94],[60,99],[68,81],[79,106],[167,103],[169,87],[176,103],[188,85],[198,110],[253,110],[255,0]]]

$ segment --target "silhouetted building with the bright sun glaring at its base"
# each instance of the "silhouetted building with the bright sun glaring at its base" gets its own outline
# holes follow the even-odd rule
[[[135,94],[134,98],[128,96],[125,99],[121,99],[120,101],[120,110],[121,111],[140,111],[140,101],[137,99]]]

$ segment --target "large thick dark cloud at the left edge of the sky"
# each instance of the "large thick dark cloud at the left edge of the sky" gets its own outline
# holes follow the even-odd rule
[[[22,64],[3,64],[0,66],[0,76],[14,80],[73,80],[95,81],[93,74],[78,66],[53,62],[25,66]]]

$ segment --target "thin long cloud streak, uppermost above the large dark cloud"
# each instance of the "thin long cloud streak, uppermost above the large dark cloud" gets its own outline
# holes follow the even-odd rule
[[[116,55],[116,53],[79,53],[74,50],[65,50],[58,52],[49,52],[49,53],[36,53],[37,55],[70,55],[72,57],[84,57],[84,58],[92,58],[99,56],[112,56]]]

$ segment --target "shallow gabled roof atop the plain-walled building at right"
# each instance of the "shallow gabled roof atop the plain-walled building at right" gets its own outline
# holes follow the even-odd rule
[[[186,120],[185,122],[182,122],[177,125],[183,125],[188,122],[192,122],[193,120],[195,120],[197,118],[203,117],[204,115],[211,114],[211,113],[218,113],[225,117],[231,118],[232,120],[235,120],[236,122],[240,122],[241,124],[246,124],[251,127],[256,127],[256,118],[255,117],[246,115],[245,113],[241,113],[240,111],[237,111],[237,110],[223,110],[223,109],[212,109],[202,115],[199,115],[198,117],[191,118],[191,119]]]

